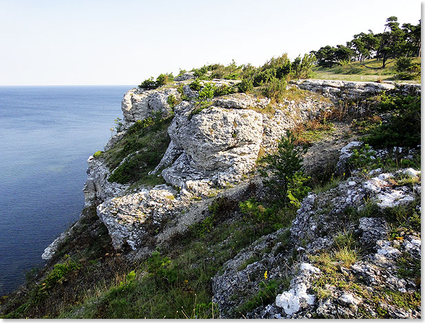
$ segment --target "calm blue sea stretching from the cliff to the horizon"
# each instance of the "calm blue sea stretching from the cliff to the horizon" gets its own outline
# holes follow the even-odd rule
[[[87,158],[103,150],[130,88],[0,87],[0,295],[78,219]]]

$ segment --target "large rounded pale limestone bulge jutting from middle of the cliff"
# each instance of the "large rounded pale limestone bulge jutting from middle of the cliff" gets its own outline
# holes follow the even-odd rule
[[[190,102],[175,107],[175,118],[168,128],[172,144],[160,167],[181,154],[162,171],[162,177],[186,189],[188,181],[206,179],[204,182],[224,186],[240,179],[254,167],[259,154],[263,140],[261,113],[212,106],[192,115],[193,109]]]

